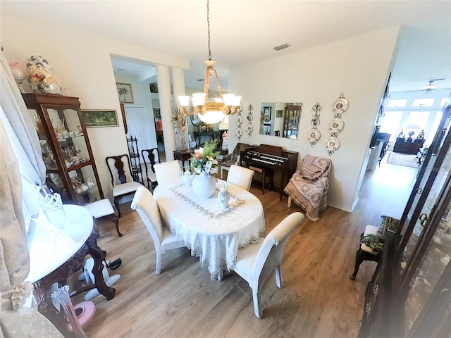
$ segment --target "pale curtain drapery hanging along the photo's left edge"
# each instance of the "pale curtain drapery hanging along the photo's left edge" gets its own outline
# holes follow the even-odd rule
[[[7,66],[1,52],[0,337],[63,337],[35,308],[22,307],[31,288],[24,282],[30,270],[30,258],[23,218],[21,177],[23,182],[29,181],[35,187],[41,187],[45,167],[37,134],[33,134],[32,123],[30,125],[30,120],[27,121],[25,104],[16,82],[11,82],[12,75]],[[25,169],[29,171],[23,171]],[[30,208],[30,211],[37,213],[39,205],[37,210],[34,209]]]

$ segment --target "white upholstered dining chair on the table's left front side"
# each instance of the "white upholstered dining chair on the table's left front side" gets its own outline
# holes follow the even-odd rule
[[[146,187],[140,187],[133,197],[131,208],[136,210],[144,225],[147,227],[155,246],[156,265],[155,275],[161,273],[163,253],[171,249],[183,248],[185,242],[172,234],[163,226],[160,209],[156,204],[152,192]]]

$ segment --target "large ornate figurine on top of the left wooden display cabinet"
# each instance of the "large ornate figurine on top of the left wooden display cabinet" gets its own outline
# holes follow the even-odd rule
[[[30,56],[27,62],[28,75],[33,92],[61,95],[61,88],[49,63],[42,56]]]

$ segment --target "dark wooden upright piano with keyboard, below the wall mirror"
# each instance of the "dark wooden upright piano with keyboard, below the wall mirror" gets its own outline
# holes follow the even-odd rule
[[[283,150],[281,146],[260,144],[242,151],[240,154],[241,165],[249,167],[254,165],[280,173],[280,200],[282,200],[283,188],[290,177],[295,173],[297,166],[297,152]]]

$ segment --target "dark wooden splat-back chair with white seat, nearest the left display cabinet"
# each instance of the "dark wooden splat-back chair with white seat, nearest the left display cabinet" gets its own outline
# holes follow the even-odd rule
[[[139,187],[142,187],[142,184],[133,181],[130,174],[130,158],[127,154],[122,154],[119,156],[108,156],[105,158],[105,161],[111,176],[114,206],[116,206],[116,209],[118,211],[118,218],[121,218],[119,201],[121,201],[124,196],[135,194],[136,190]]]

